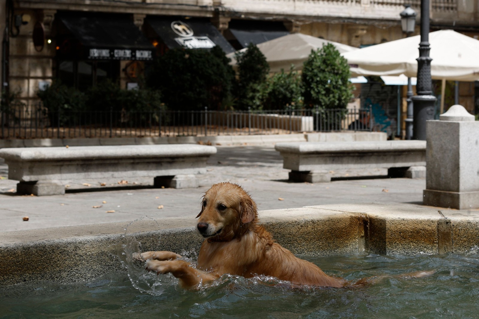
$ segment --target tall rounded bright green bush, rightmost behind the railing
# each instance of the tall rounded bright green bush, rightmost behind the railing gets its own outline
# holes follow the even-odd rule
[[[303,97],[307,107],[323,109],[346,108],[352,98],[353,85],[347,60],[332,44],[323,44],[304,62]]]

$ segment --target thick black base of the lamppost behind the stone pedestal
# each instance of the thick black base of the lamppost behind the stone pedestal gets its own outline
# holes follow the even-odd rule
[[[413,140],[426,140],[426,121],[434,120],[434,104],[436,97],[433,95],[415,95],[413,104]]]

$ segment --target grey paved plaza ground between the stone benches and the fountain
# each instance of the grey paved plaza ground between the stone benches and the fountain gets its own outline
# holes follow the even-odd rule
[[[288,170],[282,168],[282,158],[273,145],[217,146],[217,150],[208,161],[199,188],[152,188],[152,178],[128,179],[127,184],[118,184],[116,179],[84,180],[69,183],[65,195],[43,197],[17,195],[17,181],[7,179],[8,166],[0,162],[0,231],[114,221],[125,221],[126,225],[146,216],[155,220],[175,216],[194,219],[202,193],[223,181],[244,187],[259,210],[342,203],[419,206],[422,202],[425,179],[386,178],[385,170],[370,169],[334,172],[337,178],[331,183],[289,183]],[[354,179],[358,173],[382,178]],[[28,221],[23,221],[25,216]]]

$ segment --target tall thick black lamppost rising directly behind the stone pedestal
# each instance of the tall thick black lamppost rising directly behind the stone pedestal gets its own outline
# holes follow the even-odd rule
[[[433,81],[429,56],[429,0],[421,0],[421,42],[419,43],[418,75],[416,94],[412,97],[413,132],[412,139],[426,139],[426,121],[434,119]]]

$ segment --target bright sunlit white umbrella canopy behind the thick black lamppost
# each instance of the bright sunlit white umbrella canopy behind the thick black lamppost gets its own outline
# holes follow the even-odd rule
[[[417,76],[420,35],[344,53],[353,75]],[[431,77],[453,81],[479,80],[479,40],[453,30],[429,33]]]

